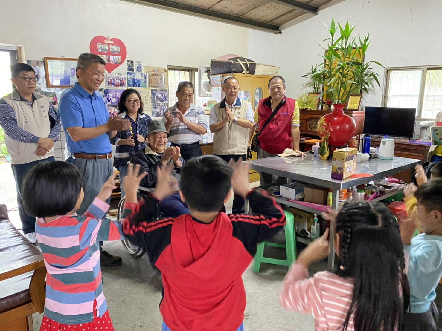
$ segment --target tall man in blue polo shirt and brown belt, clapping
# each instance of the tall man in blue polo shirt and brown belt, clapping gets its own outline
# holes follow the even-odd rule
[[[78,57],[75,83],[60,99],[58,112],[66,133],[66,144],[71,155],[68,162],[75,164],[83,175],[84,199],[78,214],[84,214],[113,172],[112,147],[109,138],[117,131],[127,130],[129,120],[109,117],[106,104],[97,91],[104,80],[104,60],[92,53]],[[106,214],[103,214],[103,218]],[[121,257],[101,249],[102,265],[115,266]]]

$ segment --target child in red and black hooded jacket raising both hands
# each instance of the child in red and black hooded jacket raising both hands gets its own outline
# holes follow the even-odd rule
[[[124,180],[123,232],[145,248],[161,271],[163,330],[243,330],[246,296],[241,275],[258,243],[285,225],[281,207],[271,196],[249,188],[247,164],[240,160],[231,167],[206,155],[186,162],[180,172],[180,195],[191,214],[157,220],[158,204],[176,192],[176,179],[169,169],[158,169],[155,191],[138,202],[143,177],[138,169],[129,165]],[[253,215],[218,212],[232,188],[248,199]]]

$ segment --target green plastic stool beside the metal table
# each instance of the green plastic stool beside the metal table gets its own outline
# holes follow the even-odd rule
[[[263,241],[258,244],[255,254],[255,262],[253,263],[253,272],[259,272],[261,263],[278,264],[280,266],[290,267],[296,260],[296,238],[295,238],[295,223],[293,214],[290,211],[284,211],[286,214],[286,225],[284,226],[284,233],[286,235],[286,244],[276,244],[269,241]],[[286,260],[272,259],[270,257],[264,257],[265,246],[286,248]]]

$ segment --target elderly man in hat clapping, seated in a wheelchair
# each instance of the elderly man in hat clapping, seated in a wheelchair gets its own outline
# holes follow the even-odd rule
[[[138,150],[131,163],[141,165],[140,172],[146,172],[146,177],[141,181],[139,190],[141,194],[152,192],[156,185],[156,169],[162,164],[170,165],[173,163],[174,169],[172,175],[176,177],[179,183],[179,169],[183,166],[184,160],[180,156],[179,147],[166,147],[169,132],[164,123],[160,120],[152,120],[147,132],[147,144],[145,149]],[[118,204],[118,219],[120,218],[124,205],[124,197]],[[187,203],[181,200],[179,192],[163,199],[160,203],[160,218],[178,217],[182,214],[190,214]],[[142,248],[134,246],[129,241],[124,240],[124,248],[132,256],[141,257],[145,252]]]

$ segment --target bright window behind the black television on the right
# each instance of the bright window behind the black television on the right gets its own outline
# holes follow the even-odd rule
[[[416,117],[434,119],[442,111],[442,67],[387,69],[387,107],[416,108]]]

